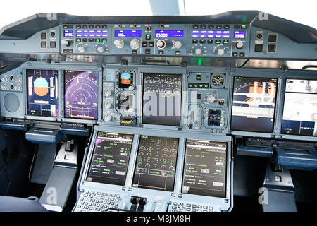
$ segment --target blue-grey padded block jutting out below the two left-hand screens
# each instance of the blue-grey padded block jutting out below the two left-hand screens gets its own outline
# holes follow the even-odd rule
[[[25,133],[27,141],[38,144],[53,144],[61,141],[61,133],[58,129],[32,128]]]

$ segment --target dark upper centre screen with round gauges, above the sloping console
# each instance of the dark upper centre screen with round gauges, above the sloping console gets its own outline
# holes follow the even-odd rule
[[[182,75],[143,74],[144,124],[180,126]]]

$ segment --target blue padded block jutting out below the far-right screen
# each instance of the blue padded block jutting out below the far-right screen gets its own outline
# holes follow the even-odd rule
[[[277,148],[275,161],[287,169],[317,169],[317,152]]]

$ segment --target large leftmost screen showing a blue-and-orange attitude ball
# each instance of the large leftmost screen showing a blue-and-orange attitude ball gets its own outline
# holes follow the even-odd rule
[[[27,114],[58,117],[58,71],[27,70]]]

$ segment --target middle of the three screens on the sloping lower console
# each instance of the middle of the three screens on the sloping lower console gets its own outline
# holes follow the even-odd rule
[[[178,139],[141,136],[132,186],[173,191]]]

